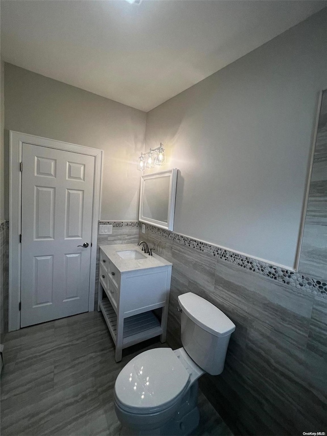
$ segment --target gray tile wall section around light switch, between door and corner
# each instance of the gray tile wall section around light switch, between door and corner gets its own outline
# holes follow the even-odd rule
[[[99,235],[100,224],[111,224],[111,235]],[[138,242],[138,221],[99,221],[98,223],[98,249],[97,249],[97,269],[96,269],[96,292],[95,310],[98,303],[98,282],[99,282],[99,254],[100,245],[115,244],[136,244]]]

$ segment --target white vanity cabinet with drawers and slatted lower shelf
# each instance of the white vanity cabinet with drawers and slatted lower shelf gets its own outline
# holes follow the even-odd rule
[[[136,244],[100,247],[98,310],[115,343],[115,360],[123,348],[160,335],[166,341],[172,264],[153,254],[122,259],[120,251],[142,253]],[[162,308],[161,319],[154,309]]]

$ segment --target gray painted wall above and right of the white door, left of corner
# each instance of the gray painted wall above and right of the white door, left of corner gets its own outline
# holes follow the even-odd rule
[[[5,113],[6,130],[104,150],[100,218],[137,219],[145,112],[6,63]]]

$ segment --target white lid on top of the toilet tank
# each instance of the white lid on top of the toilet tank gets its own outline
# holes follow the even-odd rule
[[[235,330],[235,324],[224,312],[193,292],[179,295],[178,302],[195,324],[215,336],[227,336]]]

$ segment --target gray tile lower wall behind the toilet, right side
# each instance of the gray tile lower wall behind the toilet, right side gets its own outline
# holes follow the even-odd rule
[[[284,283],[264,268],[256,270],[258,261],[234,262],[229,252],[217,256],[199,241],[152,226],[139,237],[173,263],[168,321],[173,348],[181,346],[176,309],[181,293],[203,296],[236,324],[223,373],[200,379],[203,393],[234,434],[326,431],[324,286],[313,287],[312,279],[296,273],[297,285]],[[310,285],[300,286],[306,279]]]

